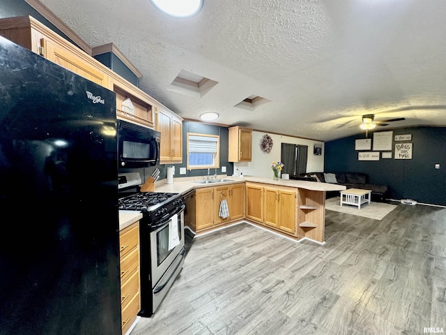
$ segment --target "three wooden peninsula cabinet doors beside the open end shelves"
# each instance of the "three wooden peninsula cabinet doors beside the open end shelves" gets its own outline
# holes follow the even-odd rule
[[[297,189],[265,184],[246,184],[246,218],[296,234]]]

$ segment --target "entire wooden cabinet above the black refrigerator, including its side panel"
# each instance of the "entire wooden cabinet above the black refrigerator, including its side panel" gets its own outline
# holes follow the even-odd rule
[[[106,66],[31,16],[0,19],[0,34],[102,87],[112,89]]]

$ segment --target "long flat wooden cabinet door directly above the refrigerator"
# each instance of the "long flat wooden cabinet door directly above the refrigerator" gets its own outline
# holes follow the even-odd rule
[[[109,88],[109,77],[98,68],[94,68],[90,64],[86,64],[82,58],[72,54],[72,52],[66,50],[64,47],[57,45],[56,43],[46,38],[40,39],[40,46],[43,47],[44,57],[54,63],[68,68],[74,73],[81,75],[82,77],[100,84],[102,87]]]

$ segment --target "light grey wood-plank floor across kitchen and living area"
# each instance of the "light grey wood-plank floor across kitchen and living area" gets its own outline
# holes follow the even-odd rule
[[[247,223],[196,237],[160,310],[131,335],[446,333],[446,209],[327,211],[325,240]]]

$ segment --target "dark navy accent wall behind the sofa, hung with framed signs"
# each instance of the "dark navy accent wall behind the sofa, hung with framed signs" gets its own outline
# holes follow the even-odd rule
[[[380,128],[376,131],[387,131]],[[393,130],[393,135],[412,134],[412,159],[380,158],[358,161],[355,140],[365,133],[325,142],[325,172],[364,172],[371,184],[387,185],[390,199],[413,199],[427,204],[446,206],[446,128],[413,127]],[[372,139],[373,132],[369,132]],[[440,164],[440,169],[434,168]]]

